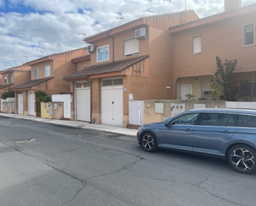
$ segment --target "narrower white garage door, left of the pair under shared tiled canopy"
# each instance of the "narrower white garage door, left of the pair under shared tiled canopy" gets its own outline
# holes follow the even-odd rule
[[[75,89],[76,120],[90,122],[90,88]]]

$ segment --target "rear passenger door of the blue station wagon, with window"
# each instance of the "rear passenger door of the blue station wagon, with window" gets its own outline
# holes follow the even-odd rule
[[[236,130],[234,114],[200,113],[192,137],[193,150],[219,154]]]

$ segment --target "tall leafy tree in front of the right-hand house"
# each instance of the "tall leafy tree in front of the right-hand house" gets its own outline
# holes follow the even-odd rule
[[[230,86],[229,78],[233,74],[237,65],[237,60],[225,60],[225,64],[221,63],[220,57],[216,56],[217,71],[215,72],[215,80],[210,80],[211,98],[212,99],[225,99],[234,100],[236,93],[239,89]],[[223,95],[221,95],[221,93]]]

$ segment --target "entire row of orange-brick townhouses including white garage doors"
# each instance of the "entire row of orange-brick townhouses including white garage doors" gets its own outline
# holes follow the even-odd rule
[[[70,93],[70,120],[127,127],[129,100],[209,98],[216,56],[238,60],[232,84],[246,80],[254,96],[256,4],[241,5],[225,0],[225,12],[201,19],[192,10],[142,17],[86,37],[86,49],[28,62],[31,80],[12,88],[16,113],[36,115],[36,90]]]

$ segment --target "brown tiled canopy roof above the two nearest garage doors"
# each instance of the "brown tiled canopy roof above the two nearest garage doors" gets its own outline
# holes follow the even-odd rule
[[[145,60],[148,57],[149,55],[142,55],[142,56],[130,58],[127,60],[118,60],[118,61],[101,64],[101,65],[92,65],[78,72],[75,72],[74,74],[65,76],[63,79],[65,80],[76,79],[76,78],[88,77],[90,75],[95,75],[95,74],[106,74],[111,72],[122,71],[123,69],[128,69],[132,65],[136,65],[138,62]]]

